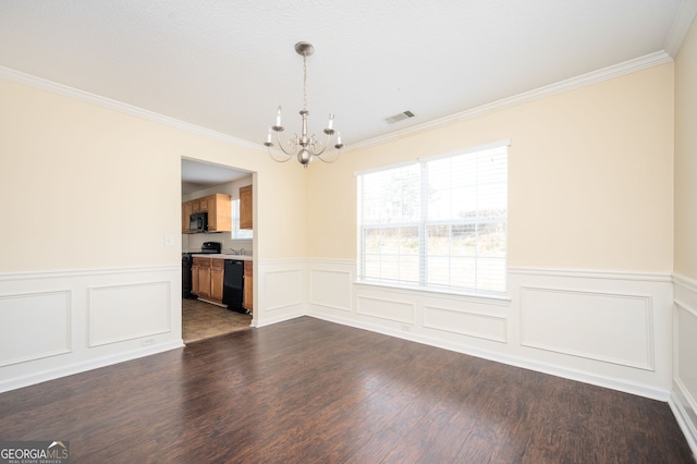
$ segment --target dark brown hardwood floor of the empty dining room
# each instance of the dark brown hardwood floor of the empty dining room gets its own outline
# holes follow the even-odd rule
[[[689,463],[665,403],[303,317],[0,394],[72,463]]]

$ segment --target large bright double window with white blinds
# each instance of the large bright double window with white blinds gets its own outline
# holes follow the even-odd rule
[[[358,174],[358,278],[506,290],[508,142]]]

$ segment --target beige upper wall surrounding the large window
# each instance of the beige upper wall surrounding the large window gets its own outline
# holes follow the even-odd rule
[[[355,258],[355,171],[500,139],[510,266],[672,271],[672,63],[314,164],[310,256]]]

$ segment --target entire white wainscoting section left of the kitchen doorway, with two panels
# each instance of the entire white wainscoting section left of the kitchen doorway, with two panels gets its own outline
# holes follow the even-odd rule
[[[181,266],[0,273],[0,392],[183,346]]]

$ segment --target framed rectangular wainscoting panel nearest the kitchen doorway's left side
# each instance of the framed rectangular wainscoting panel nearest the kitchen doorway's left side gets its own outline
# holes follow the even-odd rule
[[[170,282],[90,288],[89,346],[169,332],[171,293]]]

